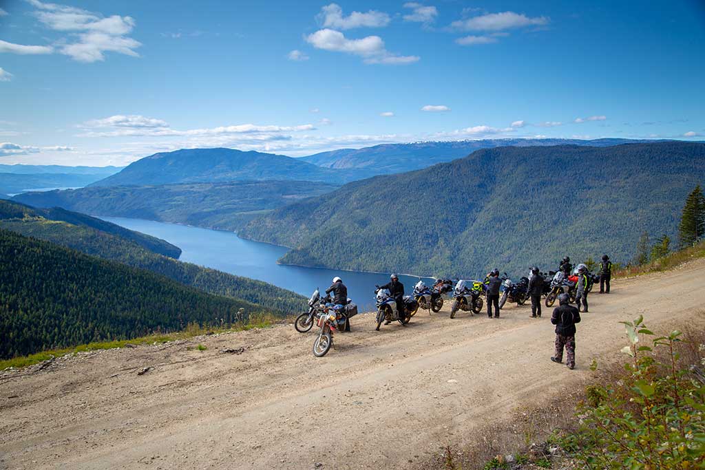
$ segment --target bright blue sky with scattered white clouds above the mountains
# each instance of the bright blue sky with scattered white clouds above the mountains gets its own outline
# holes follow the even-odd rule
[[[0,0],[0,163],[705,140],[702,1]]]

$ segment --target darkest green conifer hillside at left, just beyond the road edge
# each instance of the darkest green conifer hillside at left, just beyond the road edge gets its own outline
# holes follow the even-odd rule
[[[258,311],[249,302],[0,229],[0,359],[188,323],[234,323]]]

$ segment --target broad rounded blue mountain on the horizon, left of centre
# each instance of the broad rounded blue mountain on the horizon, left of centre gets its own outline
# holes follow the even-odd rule
[[[306,180],[342,184],[355,172],[321,168],[289,156],[234,149],[181,149],[146,156],[92,186],[223,183],[235,180]]]

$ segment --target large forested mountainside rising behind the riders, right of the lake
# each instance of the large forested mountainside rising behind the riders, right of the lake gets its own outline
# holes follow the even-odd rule
[[[281,262],[431,276],[525,272],[611,255],[644,230],[675,237],[705,180],[705,144],[500,147],[349,183],[272,211],[240,235],[292,247]]]

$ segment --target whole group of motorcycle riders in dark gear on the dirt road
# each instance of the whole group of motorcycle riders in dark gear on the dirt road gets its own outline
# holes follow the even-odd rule
[[[559,271],[562,271],[566,278],[573,271],[573,266],[570,264],[570,257],[565,256],[560,261]],[[610,293],[610,280],[612,278],[612,262],[609,256],[604,254],[600,263],[600,294]],[[541,276],[541,272],[537,266],[531,269],[529,278],[528,293],[531,297],[532,318],[541,317],[541,296],[544,295],[544,284],[548,282]],[[499,318],[499,297],[502,280],[499,278],[499,270],[494,268],[486,276],[484,283],[486,285],[486,301],[487,301],[487,316],[489,318]],[[575,369],[575,324],[580,323],[580,313],[588,311],[587,305],[587,290],[589,278],[588,269],[585,264],[577,265],[577,283],[575,285],[575,303],[577,308],[570,304],[570,295],[563,293],[558,295],[558,307],[553,309],[551,315],[551,323],[556,325],[556,341],[555,353],[551,356],[551,361],[558,364],[563,364],[563,350],[565,350],[565,366],[568,369]],[[390,280],[385,285],[379,286],[381,289],[387,289],[389,295],[393,297],[397,304],[398,311],[404,311],[404,285],[399,281],[396,274],[390,276]],[[326,295],[333,295],[332,301],[335,306],[344,306],[348,303],[348,287],[345,287],[343,280],[336,276],[333,278],[333,284],[326,289]],[[493,315],[494,309],[494,315]],[[391,323],[387,320],[386,324]],[[345,321],[345,330],[350,330],[350,323]]]

